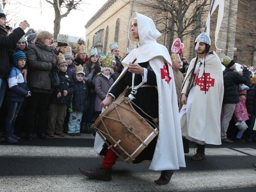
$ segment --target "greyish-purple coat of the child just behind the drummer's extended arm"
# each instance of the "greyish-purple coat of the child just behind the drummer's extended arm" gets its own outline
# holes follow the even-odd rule
[[[102,74],[95,79],[95,92],[97,93],[94,106],[95,112],[101,112],[102,108],[100,104],[106,98],[108,90],[113,83],[113,78],[110,77],[110,79],[107,79]]]

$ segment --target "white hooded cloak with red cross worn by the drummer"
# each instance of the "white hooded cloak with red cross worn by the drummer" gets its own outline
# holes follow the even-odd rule
[[[127,68],[129,62],[133,61],[134,58],[137,58],[136,63],[148,61],[156,75],[159,134],[149,169],[155,171],[179,169],[179,167],[185,167],[186,165],[171,58],[166,47],[156,42],[156,39],[161,34],[156,30],[152,19],[142,14],[134,13],[130,21],[130,26],[135,17],[138,23],[139,42],[133,41],[132,33],[129,31],[129,40],[135,49],[126,56],[122,64]],[[120,76],[122,76],[122,73]],[[119,78],[112,87],[118,81]],[[102,141],[100,136],[96,136],[94,145],[95,151],[98,153],[102,147],[102,142],[99,139]]]

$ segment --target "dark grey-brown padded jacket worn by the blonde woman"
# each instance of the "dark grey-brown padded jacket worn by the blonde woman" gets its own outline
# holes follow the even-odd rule
[[[30,45],[27,54],[28,66],[28,86],[30,88],[51,89],[51,68],[52,63],[56,63],[55,55],[50,47],[36,41],[35,45]]]

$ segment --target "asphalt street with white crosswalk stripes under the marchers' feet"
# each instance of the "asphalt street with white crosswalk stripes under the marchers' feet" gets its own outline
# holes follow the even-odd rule
[[[0,133],[1,134],[1,133]],[[195,143],[185,154],[186,168],[174,172],[168,185],[156,185],[160,171],[150,162],[118,161],[112,181],[97,181],[78,168],[95,169],[102,159],[93,150],[94,136],[55,136],[48,141],[22,138],[0,143],[0,192],[255,192],[256,143],[206,145],[206,159],[192,161]]]

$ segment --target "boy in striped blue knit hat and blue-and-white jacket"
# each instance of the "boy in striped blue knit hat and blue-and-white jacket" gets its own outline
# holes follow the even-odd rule
[[[26,81],[21,73],[21,68],[26,64],[26,55],[21,51],[20,48],[15,49],[16,52],[13,54],[14,67],[8,75],[7,81],[9,89],[7,90],[7,116],[4,125],[4,135],[5,140],[8,143],[17,143],[20,137],[15,136],[14,124],[20,106],[24,101],[24,97],[31,96],[28,87],[26,86]]]

